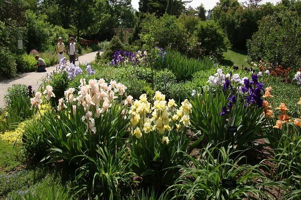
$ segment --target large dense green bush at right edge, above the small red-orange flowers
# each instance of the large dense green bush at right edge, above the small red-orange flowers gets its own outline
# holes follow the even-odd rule
[[[301,19],[294,13],[284,12],[263,17],[259,29],[248,42],[251,59],[268,61],[277,66],[301,66]]]

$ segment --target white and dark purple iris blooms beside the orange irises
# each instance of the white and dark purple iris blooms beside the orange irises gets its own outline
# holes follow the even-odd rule
[[[211,85],[221,85],[223,90],[230,90],[232,94],[231,97],[228,98],[227,105],[222,107],[220,112],[221,116],[224,116],[230,113],[233,105],[237,100],[237,96],[234,95],[235,90],[238,93],[244,96],[245,104],[244,106],[247,107],[249,105],[255,104],[258,107],[262,107],[263,98],[262,95],[264,94],[263,83],[258,81],[258,75],[252,74],[251,79],[248,77],[243,77],[242,79],[239,77],[238,73],[229,74],[227,73],[224,75],[222,69],[217,69],[217,73],[214,76],[210,76],[208,82]],[[233,85],[234,84],[234,85]]]

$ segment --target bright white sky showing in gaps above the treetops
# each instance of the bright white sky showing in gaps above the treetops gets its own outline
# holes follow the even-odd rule
[[[199,6],[201,3],[204,4],[205,8],[208,9],[212,9],[216,2],[218,2],[219,0],[193,0],[191,3],[188,3],[187,6],[191,5],[192,7],[196,8],[197,6]],[[238,0],[239,2],[243,2],[246,0]],[[266,2],[272,2],[272,3],[276,3],[280,0],[263,0],[262,3],[266,3]],[[138,9],[139,5],[138,5],[139,0],[132,0],[132,5],[135,9]]]

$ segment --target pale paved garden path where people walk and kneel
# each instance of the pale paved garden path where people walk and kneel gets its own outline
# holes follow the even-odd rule
[[[87,53],[78,57],[76,63],[85,63],[86,61],[93,61],[96,57],[97,51]],[[68,61],[69,62],[69,61]],[[56,69],[56,65],[47,67],[47,71],[53,71]],[[13,79],[6,79],[0,81],[0,107],[4,107],[4,95],[8,88],[13,84],[26,84],[32,85],[34,90],[37,90],[42,83],[42,78],[45,77],[46,72],[29,72],[19,74],[19,77]]]

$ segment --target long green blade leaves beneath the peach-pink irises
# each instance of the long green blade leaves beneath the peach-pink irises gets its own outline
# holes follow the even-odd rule
[[[108,112],[96,117],[95,134],[86,131],[87,124],[82,121],[86,111],[82,106],[76,106],[76,113],[73,113],[72,105],[69,103],[65,110],[45,113],[41,119],[45,133],[44,131],[41,133],[45,134],[42,138],[47,137],[47,144],[51,147],[45,159],[48,162],[64,159],[70,161],[71,165],[78,165],[80,161],[78,156],[83,152],[86,152],[87,156],[95,156],[97,145],[122,145],[121,138],[127,128],[127,120],[121,115],[122,109],[118,103],[113,103]]]

